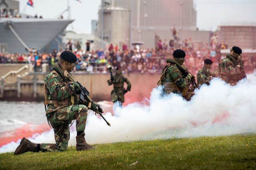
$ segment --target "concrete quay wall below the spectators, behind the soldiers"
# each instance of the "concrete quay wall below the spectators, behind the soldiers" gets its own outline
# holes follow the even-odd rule
[[[1,76],[5,75],[10,70],[18,70],[23,67],[23,64],[15,64],[15,65],[0,65],[0,74]],[[28,71],[28,70],[26,70]],[[18,74],[17,74],[18,75]],[[17,75],[13,75],[12,79],[8,79],[9,84],[15,84],[17,82]],[[39,81],[44,80],[47,73],[37,73],[36,79]],[[74,79],[81,82],[87,90],[90,91],[94,100],[110,100],[110,92],[113,89],[113,86],[109,86],[107,80],[110,79],[109,74],[80,74],[74,73],[72,74]],[[32,81],[34,78],[34,74],[30,73],[29,75],[21,78],[21,80]],[[158,74],[130,74],[125,75],[131,81],[132,88],[131,92],[128,92],[125,95],[126,102],[134,102],[141,101],[145,97],[150,96],[151,90],[156,87],[156,83],[159,80]],[[126,86],[125,86],[126,87]],[[5,99],[7,97],[11,97],[11,99],[16,99],[15,91],[5,92]],[[43,99],[44,97],[44,85],[37,85],[37,96],[39,99]],[[33,98],[33,84],[21,84],[21,99],[26,100],[28,98]]]

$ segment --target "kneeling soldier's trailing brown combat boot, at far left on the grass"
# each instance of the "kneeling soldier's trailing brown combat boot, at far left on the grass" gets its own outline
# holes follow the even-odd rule
[[[39,150],[40,150],[40,144],[33,143],[30,140],[23,137],[22,140],[20,141],[20,145],[15,150],[14,155],[19,155],[26,152],[39,152]]]

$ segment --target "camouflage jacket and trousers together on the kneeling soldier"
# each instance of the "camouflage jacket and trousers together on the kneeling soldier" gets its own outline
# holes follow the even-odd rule
[[[55,68],[60,69],[58,67]],[[72,105],[72,103],[76,103],[74,101],[74,84],[73,82],[65,83],[59,72],[61,70],[58,72],[51,71],[44,79],[46,100],[54,100],[57,104],[49,104],[46,110],[46,117],[54,129],[56,144],[42,143],[40,146],[43,152],[67,150],[69,124],[72,120],[76,120],[77,132],[85,130],[87,107],[85,105]]]

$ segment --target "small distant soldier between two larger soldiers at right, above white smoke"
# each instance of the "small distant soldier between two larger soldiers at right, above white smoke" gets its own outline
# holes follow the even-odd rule
[[[212,73],[210,69],[212,68],[212,60],[205,59],[204,66],[201,70],[197,72],[197,84],[201,86],[202,84],[210,85],[210,80],[212,80]]]

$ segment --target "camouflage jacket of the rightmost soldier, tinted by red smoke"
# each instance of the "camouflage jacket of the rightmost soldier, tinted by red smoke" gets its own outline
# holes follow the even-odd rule
[[[239,60],[236,60],[232,55],[228,54],[219,65],[220,77],[231,85],[236,84],[236,82],[245,77],[243,67],[236,67],[240,64]]]

